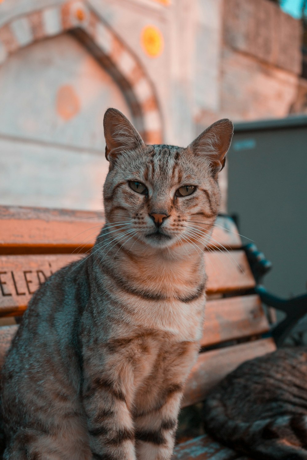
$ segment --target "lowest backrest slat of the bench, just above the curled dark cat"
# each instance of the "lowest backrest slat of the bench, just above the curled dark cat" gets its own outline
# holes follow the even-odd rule
[[[242,362],[275,350],[273,339],[261,339],[200,353],[186,384],[182,407],[203,401],[211,388]]]

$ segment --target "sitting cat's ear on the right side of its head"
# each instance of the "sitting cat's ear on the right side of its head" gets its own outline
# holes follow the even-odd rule
[[[216,121],[188,146],[195,155],[210,161],[214,176],[225,166],[226,153],[232,142],[233,124],[228,118]]]

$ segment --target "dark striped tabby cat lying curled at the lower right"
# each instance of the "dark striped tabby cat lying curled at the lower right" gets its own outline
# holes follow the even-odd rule
[[[307,460],[307,347],[244,362],[204,402],[213,437],[261,460]]]

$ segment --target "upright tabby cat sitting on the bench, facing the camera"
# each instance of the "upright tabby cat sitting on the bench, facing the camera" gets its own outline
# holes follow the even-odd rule
[[[168,460],[202,336],[203,247],[233,133],[145,145],[104,115],[105,225],[29,302],[2,371],[4,460]]]

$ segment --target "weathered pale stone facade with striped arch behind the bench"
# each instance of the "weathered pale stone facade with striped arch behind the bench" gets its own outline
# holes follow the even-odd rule
[[[86,47],[83,51],[78,41]],[[44,43],[49,59],[44,57]],[[95,177],[88,187],[97,195],[108,166],[99,133],[108,105],[122,108],[147,142],[186,145],[219,118],[284,117],[306,104],[301,102],[305,81],[299,78],[301,24],[268,0],[3,0],[0,63],[0,104],[6,115],[2,121],[0,115],[2,171],[16,171],[15,163],[11,169],[8,165],[14,152],[20,158],[17,151],[23,161],[37,165],[37,175],[40,162],[52,165],[63,158],[57,170],[63,182],[72,169],[74,177],[79,174],[78,161],[72,160],[79,146],[85,155],[81,163],[87,163],[87,174],[92,171]],[[46,75],[48,66],[52,78]],[[19,78],[22,71],[33,75],[33,81]],[[26,94],[24,85],[29,86]],[[29,104],[26,96],[35,94],[35,87],[41,97]],[[102,173],[97,175],[99,165]],[[16,182],[22,184],[25,171],[21,168]],[[50,171],[52,167],[46,169],[46,178]],[[55,180],[52,175],[46,178],[40,193],[27,197],[27,187],[23,190],[19,184],[17,190],[3,174],[4,204],[97,208],[98,199],[82,199],[80,184],[72,178],[70,192],[59,178],[57,190],[50,185],[44,192],[43,183]],[[226,170],[220,185],[225,209]]]

